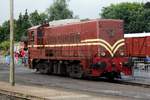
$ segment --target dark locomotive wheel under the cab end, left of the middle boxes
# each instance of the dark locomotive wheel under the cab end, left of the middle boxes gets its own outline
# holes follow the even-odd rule
[[[46,63],[39,63],[37,65],[37,68],[41,74],[48,74],[49,73],[49,67],[48,67],[48,64],[46,64]]]

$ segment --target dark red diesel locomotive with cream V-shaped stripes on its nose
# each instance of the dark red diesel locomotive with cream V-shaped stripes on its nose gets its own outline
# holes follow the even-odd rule
[[[109,78],[131,75],[123,21],[97,19],[28,30],[29,66],[41,73]]]

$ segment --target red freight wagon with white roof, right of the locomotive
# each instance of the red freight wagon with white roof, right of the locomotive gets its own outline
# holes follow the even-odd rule
[[[129,57],[150,56],[150,33],[125,34],[124,37]]]

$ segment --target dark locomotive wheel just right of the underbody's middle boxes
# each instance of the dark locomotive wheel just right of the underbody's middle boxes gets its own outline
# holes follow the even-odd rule
[[[72,78],[82,78],[83,70],[81,65],[72,65],[69,69],[69,76]]]

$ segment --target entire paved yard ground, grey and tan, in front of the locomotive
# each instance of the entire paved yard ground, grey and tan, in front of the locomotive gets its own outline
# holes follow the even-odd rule
[[[22,65],[16,65],[16,86],[11,87],[8,84],[9,69],[8,65],[0,65],[0,89],[1,93],[10,94],[21,100],[41,99],[50,100],[149,100],[150,99],[150,79],[140,81],[140,78],[124,78],[125,82],[110,82],[105,79],[72,79],[62,76],[41,75],[34,70],[29,70]],[[143,79],[143,78],[142,78]],[[133,82],[130,83],[130,82]],[[140,84],[135,84],[139,82]],[[147,85],[141,85],[146,83]],[[7,90],[7,91],[5,91]],[[13,93],[10,91],[13,90]],[[15,90],[15,91],[14,91]],[[35,97],[34,97],[35,96]],[[4,98],[3,95],[0,98]],[[5,97],[6,98],[6,97]],[[7,99],[6,99],[7,100]],[[8,99],[12,100],[12,99]],[[13,99],[13,100],[16,100]],[[20,98],[18,98],[20,100]]]

